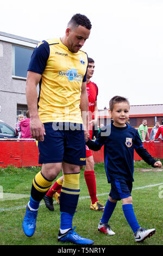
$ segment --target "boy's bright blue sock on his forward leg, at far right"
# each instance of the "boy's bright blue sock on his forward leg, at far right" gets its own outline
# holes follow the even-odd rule
[[[137,229],[140,228],[140,225],[138,224],[135,214],[134,214],[134,209],[132,204],[123,204],[122,209],[124,212],[124,216],[126,217],[126,220],[128,224],[130,225],[131,229],[135,233]]]

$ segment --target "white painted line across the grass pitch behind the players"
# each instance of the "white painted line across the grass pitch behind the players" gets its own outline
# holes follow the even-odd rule
[[[141,190],[142,188],[147,188],[147,187],[156,187],[156,186],[160,186],[163,185],[163,183],[158,183],[158,184],[153,184],[153,185],[147,185],[147,186],[143,186],[143,187],[135,187],[133,188],[133,190]],[[109,192],[108,192],[109,193]],[[105,196],[108,193],[102,193],[102,194],[97,194],[97,196]],[[30,197],[30,196],[29,196]],[[85,196],[85,197],[79,197],[79,200],[83,200],[86,198],[90,198],[90,196]],[[57,202],[54,202],[54,204],[57,204]],[[44,203],[40,203],[40,205],[45,205]],[[20,210],[20,209],[24,209],[27,207],[26,205],[21,205],[21,206],[17,206],[17,207],[11,207],[11,208],[7,208],[7,209],[0,209],[0,213],[4,212],[4,211],[13,211],[13,210]]]

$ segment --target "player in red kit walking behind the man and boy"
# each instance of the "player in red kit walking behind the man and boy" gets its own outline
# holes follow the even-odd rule
[[[90,81],[90,78],[93,76],[93,72],[95,69],[95,62],[91,58],[88,58],[88,62],[89,62],[89,65],[87,67],[86,89],[87,89],[87,96],[89,99],[89,118],[90,118],[89,132],[90,132],[90,139],[92,139],[92,130],[93,130],[93,127],[95,128],[95,125],[97,125],[97,118],[98,118],[98,107],[97,107],[98,87],[95,83]],[[94,165],[95,163],[93,160],[92,151],[86,145],[86,166],[84,171],[84,178],[85,178],[86,185],[91,197],[90,209],[95,211],[104,211],[104,203],[101,201],[98,201],[97,199]],[[61,190],[63,179],[64,179],[64,176],[61,176],[57,181],[55,181],[54,185],[49,189],[46,196],[43,198],[49,210],[52,210],[52,211],[54,210],[53,197],[55,197],[55,199],[59,204],[59,196],[60,196],[60,190]]]

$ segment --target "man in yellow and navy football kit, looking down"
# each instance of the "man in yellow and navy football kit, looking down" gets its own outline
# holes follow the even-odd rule
[[[62,169],[64,182],[60,194],[58,241],[78,245],[93,243],[72,228],[80,192],[80,166],[85,164],[86,121],[83,113],[88,112],[87,54],[80,48],[89,38],[90,30],[90,20],[85,15],[76,14],[68,22],[65,35],[42,41],[30,60],[26,86],[30,131],[39,141],[42,168],[33,179],[23,220],[23,231],[27,236],[34,234],[39,203]]]

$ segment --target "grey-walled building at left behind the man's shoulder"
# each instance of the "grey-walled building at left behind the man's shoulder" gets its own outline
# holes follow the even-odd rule
[[[0,32],[0,120],[13,128],[18,114],[26,116],[27,68],[38,42]]]

